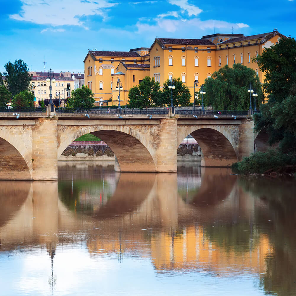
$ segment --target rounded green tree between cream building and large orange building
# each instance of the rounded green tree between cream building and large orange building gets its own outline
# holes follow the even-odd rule
[[[94,107],[94,94],[86,86],[82,86],[81,89],[75,89],[71,93],[71,97],[67,101],[68,107],[73,108],[91,108]]]

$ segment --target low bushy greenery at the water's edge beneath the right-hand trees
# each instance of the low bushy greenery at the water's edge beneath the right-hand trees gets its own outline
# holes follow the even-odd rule
[[[256,152],[234,163],[232,169],[240,174],[291,174],[296,172],[296,155],[272,149]]]

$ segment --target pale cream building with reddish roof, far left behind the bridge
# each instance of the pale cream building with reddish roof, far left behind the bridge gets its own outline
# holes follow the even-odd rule
[[[31,80],[31,91],[36,97],[36,104],[38,101],[49,99],[49,86],[50,82],[46,82],[47,73],[42,73],[44,75],[32,76]],[[74,80],[71,76],[62,76],[61,73],[54,73],[55,82],[52,82],[52,98],[61,99],[64,102],[64,99],[67,99],[71,95],[71,90],[74,89]]]

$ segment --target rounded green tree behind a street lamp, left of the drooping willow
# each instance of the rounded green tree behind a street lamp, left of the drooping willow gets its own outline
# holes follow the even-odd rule
[[[171,85],[169,79],[163,83],[162,105],[170,106],[172,90],[168,88],[169,85]],[[188,106],[191,97],[189,88],[180,78],[173,78],[173,85],[175,86],[175,89],[173,89],[173,105]]]

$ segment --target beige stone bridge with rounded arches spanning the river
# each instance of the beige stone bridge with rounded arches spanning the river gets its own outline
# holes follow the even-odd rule
[[[171,110],[169,110],[171,112]],[[57,161],[78,137],[91,133],[117,157],[116,171],[176,172],[177,148],[191,134],[202,166],[227,167],[254,151],[253,120],[225,114],[85,114],[0,112],[0,179],[56,180]]]

